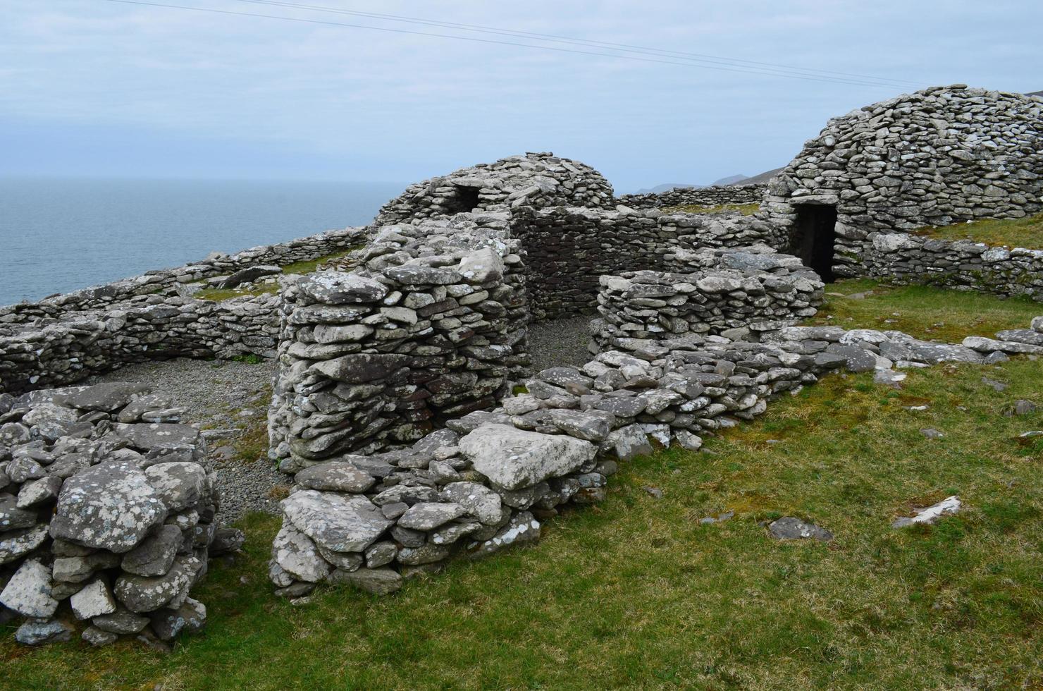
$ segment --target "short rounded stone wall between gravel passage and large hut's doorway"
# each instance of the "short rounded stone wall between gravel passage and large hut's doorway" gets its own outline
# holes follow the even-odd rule
[[[600,348],[620,338],[673,338],[687,333],[745,337],[812,316],[824,284],[797,257],[769,247],[679,251],[690,272],[626,271],[602,276]]]

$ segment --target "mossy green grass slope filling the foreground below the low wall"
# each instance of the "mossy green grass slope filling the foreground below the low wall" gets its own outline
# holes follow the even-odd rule
[[[916,316],[904,293],[870,300]],[[953,313],[976,313],[969,300],[948,293]],[[993,318],[1024,325],[1024,306],[985,300]],[[997,392],[983,374],[1011,387]],[[1024,359],[915,371],[901,391],[867,375],[830,377],[709,439],[707,453],[626,463],[604,504],[551,521],[534,548],[454,564],[385,599],[335,589],[301,606],[272,597],[265,562],[277,521],[251,517],[245,559],[215,563],[196,595],[211,614],[203,635],[161,656],[132,643],[27,650],[8,627],[6,684],[1035,688],[1043,442],[1016,436],[1043,429],[1043,414],[1001,410],[1019,398],[1043,403],[1040,381],[1043,361]],[[926,411],[905,409],[925,402]],[[928,440],[923,427],[946,436]],[[889,527],[911,504],[953,493],[967,511]],[[735,518],[698,522],[726,509]],[[773,542],[758,522],[781,515],[836,540]]]

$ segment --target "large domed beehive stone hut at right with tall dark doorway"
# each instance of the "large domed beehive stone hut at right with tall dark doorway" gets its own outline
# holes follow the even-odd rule
[[[1043,99],[933,87],[830,120],[761,212],[823,278],[858,276],[870,234],[1043,209]]]

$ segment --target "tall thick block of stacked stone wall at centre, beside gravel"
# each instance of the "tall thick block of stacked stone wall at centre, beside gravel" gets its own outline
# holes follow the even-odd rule
[[[284,470],[414,442],[495,405],[528,362],[523,257],[506,222],[383,227],[356,271],[283,292],[269,429]]]

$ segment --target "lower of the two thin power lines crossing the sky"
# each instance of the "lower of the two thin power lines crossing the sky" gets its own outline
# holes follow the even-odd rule
[[[385,32],[390,32],[390,33],[404,33],[404,34],[410,34],[410,35],[426,35],[426,37],[434,37],[434,38],[439,38],[439,39],[451,39],[451,40],[456,40],[456,41],[468,41],[468,42],[472,42],[472,43],[485,43],[485,44],[503,45],[503,46],[515,46],[515,47],[519,47],[519,48],[531,48],[531,49],[535,49],[535,50],[549,50],[549,51],[562,52],[562,53],[577,53],[577,54],[581,54],[581,55],[597,55],[597,56],[601,56],[601,57],[614,57],[616,59],[636,61],[636,62],[640,62],[640,63],[655,63],[655,64],[660,64],[660,65],[676,65],[676,66],[689,67],[689,68],[690,67],[701,67],[703,69],[708,69],[708,70],[719,70],[719,71],[724,71],[724,72],[741,72],[741,73],[746,73],[746,74],[759,74],[759,75],[762,75],[762,76],[778,76],[778,77],[782,77],[782,78],[786,78],[786,79],[802,79],[802,80],[806,80],[806,81],[825,81],[825,82],[830,82],[830,84],[846,84],[846,85],[855,85],[855,86],[863,86],[863,87],[876,87],[876,88],[887,87],[887,88],[893,88],[893,87],[888,87],[888,85],[882,85],[882,84],[879,84],[879,82],[865,81],[865,80],[859,80],[859,79],[854,79],[854,78],[846,78],[846,77],[829,77],[829,76],[826,76],[826,75],[810,75],[810,74],[808,74],[808,75],[803,75],[803,74],[789,74],[789,73],[781,73],[781,72],[769,72],[769,71],[765,71],[765,70],[760,70],[760,69],[744,69],[744,68],[741,68],[741,67],[720,67],[720,66],[713,66],[713,65],[694,65],[690,62],[687,62],[687,63],[685,63],[685,62],[677,62],[676,59],[659,59],[657,57],[639,57],[637,55],[621,55],[618,53],[606,53],[606,52],[598,52],[598,51],[593,51],[593,50],[578,50],[578,49],[575,49],[575,48],[562,48],[562,47],[559,47],[559,46],[540,46],[540,45],[527,44],[527,43],[516,43],[516,42],[512,42],[512,41],[496,41],[496,40],[492,40],[492,39],[480,39],[480,38],[477,38],[477,37],[463,37],[463,35],[454,35],[454,34],[448,34],[448,33],[435,33],[435,32],[432,32],[432,31],[416,31],[416,30],[412,30],[412,29],[393,28],[393,27],[388,27],[388,26],[370,26],[370,25],[366,25],[366,24],[350,24],[350,23],[347,23],[347,22],[332,22],[332,21],[319,20],[319,19],[305,19],[305,18],[300,18],[300,17],[285,17],[285,16],[280,16],[280,15],[262,15],[262,14],[259,14],[259,13],[235,11],[235,10],[232,10],[232,9],[217,9],[217,8],[214,8],[214,7],[195,7],[195,6],[190,6],[190,5],[178,5],[178,4],[165,3],[165,2],[147,2],[146,0],[104,0],[104,1],[105,2],[115,2],[115,3],[119,3],[119,4],[125,4],[125,5],[143,5],[143,6],[148,6],[148,7],[164,7],[164,8],[170,8],[170,9],[185,9],[185,10],[190,10],[190,11],[208,13],[208,14],[212,14],[212,15],[225,15],[225,16],[233,16],[233,17],[250,17],[250,18],[258,18],[258,19],[272,19],[272,20],[280,20],[280,21],[285,21],[285,22],[294,22],[294,23],[298,23],[298,24],[316,24],[316,25],[322,25],[322,26],[336,26],[336,27],[346,27],[346,28],[356,28],[356,29],[368,29],[368,30],[372,30],[372,31],[385,31]]]

